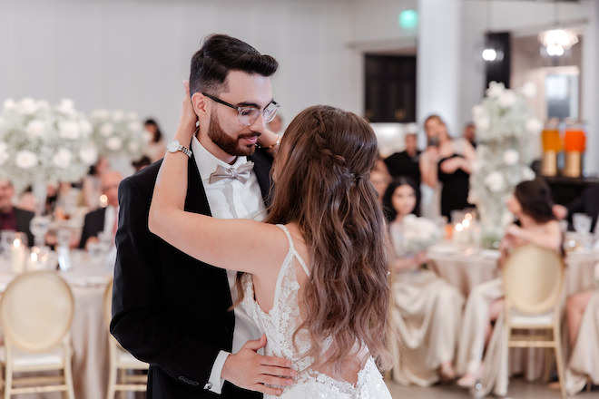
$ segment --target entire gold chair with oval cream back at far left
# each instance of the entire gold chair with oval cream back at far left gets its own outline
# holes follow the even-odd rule
[[[54,271],[25,273],[6,287],[0,302],[5,333],[5,345],[0,347],[5,399],[14,394],[55,391],[64,391],[74,399],[70,335],[73,314],[71,288]],[[55,370],[63,371],[63,375],[32,375]],[[15,373],[25,376],[16,377]]]

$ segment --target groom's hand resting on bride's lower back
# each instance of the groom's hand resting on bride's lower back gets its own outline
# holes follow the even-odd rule
[[[295,384],[293,378],[297,372],[291,368],[291,362],[280,357],[259,355],[257,351],[266,345],[266,336],[248,341],[240,351],[229,355],[222,367],[221,377],[232,384],[262,394],[282,394],[280,388]]]

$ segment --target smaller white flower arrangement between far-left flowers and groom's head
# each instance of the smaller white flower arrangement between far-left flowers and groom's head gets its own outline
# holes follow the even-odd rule
[[[92,138],[100,155],[123,155],[139,160],[147,143],[142,123],[135,112],[95,110],[90,113]]]

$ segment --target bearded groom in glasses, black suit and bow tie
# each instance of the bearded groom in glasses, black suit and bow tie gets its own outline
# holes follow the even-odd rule
[[[265,216],[271,158],[255,144],[278,107],[270,86],[278,66],[222,34],[206,38],[193,55],[190,93],[200,128],[191,143],[167,147],[190,156],[186,210],[221,219]],[[250,171],[246,161],[253,162]],[[241,307],[230,310],[235,273],[191,258],[148,230],[160,165],[119,188],[111,333],[150,364],[148,398],[261,397],[245,389],[273,394],[265,384],[284,385],[278,375],[290,375],[290,364],[257,354],[265,338]],[[228,168],[239,180],[222,173]],[[231,250],[248,249],[236,248],[231,237]]]

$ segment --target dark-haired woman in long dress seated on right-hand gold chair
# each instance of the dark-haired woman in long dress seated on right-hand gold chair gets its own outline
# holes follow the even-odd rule
[[[500,268],[514,248],[528,243],[562,254],[563,234],[553,205],[545,180],[537,178],[516,185],[514,195],[507,199],[507,209],[514,214],[517,224],[508,226],[501,240]],[[504,308],[502,284],[501,278],[487,281],[474,287],[468,296],[456,364],[457,373],[463,375],[457,380],[460,386],[472,387],[482,376],[483,353],[493,333],[493,322]],[[485,369],[485,380],[499,373],[500,365],[490,363]]]

